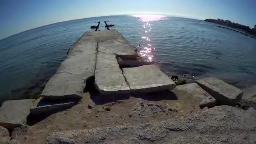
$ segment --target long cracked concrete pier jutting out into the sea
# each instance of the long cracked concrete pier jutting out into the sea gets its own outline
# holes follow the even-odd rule
[[[145,69],[141,66],[148,63],[141,62],[136,51],[137,49],[116,30],[85,32],[72,46],[67,59],[48,81],[41,96],[51,100],[81,99],[86,80],[91,76],[95,77],[96,88],[101,94],[130,93],[131,90],[143,92],[145,89],[163,91],[176,87],[175,83],[157,67],[152,65]],[[134,63],[134,66],[138,65],[141,68],[125,69],[127,80],[117,57],[129,61],[130,64],[127,66]],[[122,67],[125,66],[122,64]],[[157,75],[150,67],[154,68]],[[142,74],[145,70],[152,72],[148,71],[148,75],[139,75],[139,81],[143,83],[135,83],[138,81],[137,74]]]

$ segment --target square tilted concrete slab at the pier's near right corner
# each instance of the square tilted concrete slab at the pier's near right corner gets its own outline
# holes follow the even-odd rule
[[[123,74],[133,92],[171,90],[176,84],[154,64],[124,68]]]

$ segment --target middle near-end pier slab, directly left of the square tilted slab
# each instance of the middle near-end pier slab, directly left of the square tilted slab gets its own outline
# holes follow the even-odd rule
[[[130,90],[119,67],[96,69],[95,85],[101,94],[128,93]]]

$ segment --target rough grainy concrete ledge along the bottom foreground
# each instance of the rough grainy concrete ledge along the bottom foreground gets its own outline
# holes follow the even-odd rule
[[[255,109],[217,106],[157,123],[53,132],[47,144],[253,144],[255,130]]]

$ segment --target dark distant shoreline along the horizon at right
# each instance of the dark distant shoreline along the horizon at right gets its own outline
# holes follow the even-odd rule
[[[250,37],[254,36],[252,38],[256,38],[256,29],[251,29],[250,27],[242,25],[242,24],[234,23],[229,20],[223,20],[223,19],[205,19],[204,21],[226,26],[226,27],[216,26],[216,27],[221,27],[224,29],[229,29],[227,27],[231,27],[233,29],[229,29],[229,30],[233,30],[235,32],[243,31],[244,33],[243,32],[240,32],[240,33],[243,35],[246,35],[246,36],[250,36]],[[237,31],[235,29],[237,29]],[[240,31],[238,31],[238,30],[240,30]]]

